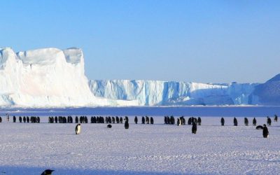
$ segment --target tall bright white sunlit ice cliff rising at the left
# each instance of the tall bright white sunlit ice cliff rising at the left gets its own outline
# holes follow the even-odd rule
[[[110,104],[114,103],[90,92],[82,50],[44,48],[15,53],[11,48],[0,48],[0,106]]]

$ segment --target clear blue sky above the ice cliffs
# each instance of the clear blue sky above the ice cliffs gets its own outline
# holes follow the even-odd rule
[[[280,1],[1,1],[0,47],[82,48],[89,79],[265,82]]]

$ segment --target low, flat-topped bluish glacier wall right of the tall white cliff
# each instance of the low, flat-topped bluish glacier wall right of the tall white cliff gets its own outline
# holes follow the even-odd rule
[[[96,97],[136,101],[139,106],[250,104],[256,83],[205,84],[160,80],[90,80]]]

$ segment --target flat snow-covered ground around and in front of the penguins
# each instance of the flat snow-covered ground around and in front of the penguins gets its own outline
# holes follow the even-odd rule
[[[190,125],[0,123],[0,174],[280,174],[280,122],[269,138],[255,130],[252,118],[232,126],[233,118],[202,117],[197,134]],[[17,118],[18,119],[18,118]],[[141,118],[139,118],[140,120]],[[257,125],[266,118],[257,118]]]

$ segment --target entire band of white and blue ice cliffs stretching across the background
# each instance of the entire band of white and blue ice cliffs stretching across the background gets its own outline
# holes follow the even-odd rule
[[[263,84],[87,80],[79,48],[0,48],[2,107],[279,105],[279,89],[280,75]]]

